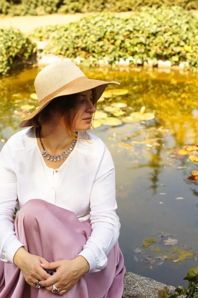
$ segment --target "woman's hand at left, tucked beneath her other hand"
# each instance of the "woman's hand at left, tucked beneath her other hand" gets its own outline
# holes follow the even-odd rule
[[[25,281],[34,288],[36,286],[33,285],[33,282],[36,280],[44,281],[51,276],[40,266],[41,263],[48,264],[48,261],[42,257],[32,255],[23,247],[16,251],[13,262],[22,271]]]

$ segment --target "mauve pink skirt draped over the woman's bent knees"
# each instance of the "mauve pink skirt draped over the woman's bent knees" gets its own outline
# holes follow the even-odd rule
[[[90,220],[80,222],[75,213],[39,199],[22,206],[14,227],[26,250],[49,262],[74,259],[92,232]],[[118,241],[107,259],[103,270],[84,275],[62,297],[121,298],[126,270]],[[30,287],[16,265],[0,261],[0,298],[51,298],[52,295],[45,288]]]

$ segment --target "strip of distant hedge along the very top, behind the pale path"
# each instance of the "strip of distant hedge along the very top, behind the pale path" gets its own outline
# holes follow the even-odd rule
[[[136,11],[142,6],[179,5],[198,9],[198,0],[0,0],[0,13],[43,15],[49,13]]]

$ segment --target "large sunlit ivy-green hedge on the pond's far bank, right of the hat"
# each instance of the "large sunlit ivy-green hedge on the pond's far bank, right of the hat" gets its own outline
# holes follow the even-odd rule
[[[45,52],[68,58],[86,58],[97,65],[133,57],[130,64],[170,60],[198,67],[198,19],[178,6],[142,8],[127,18],[110,14],[89,15],[65,26],[38,28],[34,39],[50,39]],[[130,58],[131,59],[131,58]]]

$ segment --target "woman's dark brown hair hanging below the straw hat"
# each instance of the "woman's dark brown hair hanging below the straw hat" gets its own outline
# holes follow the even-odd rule
[[[94,105],[97,105],[96,90],[92,89]],[[76,100],[77,94],[63,95],[55,97],[38,115],[32,119],[32,126],[42,127],[51,116],[50,111],[55,110],[61,112],[64,116],[65,129],[69,136],[76,136],[74,132],[74,120],[78,112],[78,102]],[[93,124],[91,123],[93,128]],[[84,133],[84,138],[87,140],[87,132]]]

